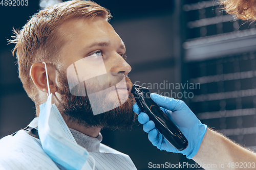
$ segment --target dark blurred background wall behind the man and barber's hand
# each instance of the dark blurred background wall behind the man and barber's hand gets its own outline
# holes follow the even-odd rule
[[[216,1],[95,2],[113,16],[110,23],[125,43],[132,82],[146,83],[145,87],[200,83],[199,89],[155,86],[151,92],[167,96],[170,90],[193,92],[192,99],[176,98],[184,100],[202,123],[255,148],[254,23],[234,20]],[[37,12],[38,4],[29,0],[23,7],[0,5],[0,138],[26,127],[35,116],[11,55],[14,44],[7,45],[7,39],[13,27],[21,29]],[[149,169],[148,162],[193,163],[181,154],[159,151],[138,123],[131,131],[102,130],[102,134],[104,144],[130,155],[138,169]]]

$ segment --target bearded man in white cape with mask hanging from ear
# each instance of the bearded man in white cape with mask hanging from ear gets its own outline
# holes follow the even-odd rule
[[[102,128],[126,129],[135,120],[131,66],[110,17],[96,3],[74,0],[39,11],[16,31],[13,54],[37,117],[0,140],[0,169],[136,169],[128,155],[100,143]]]

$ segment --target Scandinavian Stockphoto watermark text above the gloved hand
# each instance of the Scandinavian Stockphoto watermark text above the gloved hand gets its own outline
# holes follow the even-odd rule
[[[151,93],[158,93],[175,99],[192,99],[194,98],[193,90],[201,89],[200,83],[189,83],[188,81],[185,83],[169,83],[167,80],[161,83],[142,83],[136,81],[134,84],[148,88]],[[164,90],[164,92],[160,90]]]

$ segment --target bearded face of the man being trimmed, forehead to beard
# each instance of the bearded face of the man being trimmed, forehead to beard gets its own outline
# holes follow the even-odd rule
[[[131,66],[123,58],[125,46],[121,38],[102,17],[68,20],[60,27],[60,32],[68,39],[60,52],[62,113],[75,123],[90,127],[130,127],[135,118],[132,111],[134,98],[128,91],[132,83],[128,78],[124,79],[123,74],[127,75]],[[76,72],[73,75],[69,73],[71,68]],[[70,93],[71,80],[75,79],[84,81],[82,86],[83,83],[86,85],[87,93],[83,94],[80,89]],[[98,114],[100,110],[106,112]]]

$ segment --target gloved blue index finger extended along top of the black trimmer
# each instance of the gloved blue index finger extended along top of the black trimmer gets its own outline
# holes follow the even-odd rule
[[[178,111],[182,110],[184,107],[187,109],[188,107],[186,104],[181,101],[174,98],[168,98],[166,96],[159,95],[157,93],[151,93],[150,94],[151,99],[156,102],[156,104],[160,107],[163,107],[170,111]]]

